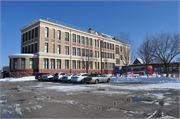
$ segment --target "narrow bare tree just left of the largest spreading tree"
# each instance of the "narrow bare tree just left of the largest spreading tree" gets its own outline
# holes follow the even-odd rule
[[[146,35],[144,38],[143,43],[139,46],[137,54],[142,59],[143,64],[145,64],[147,69],[147,76],[148,76],[148,66],[151,62],[153,62],[154,58],[152,57],[152,41],[150,40],[149,36]]]

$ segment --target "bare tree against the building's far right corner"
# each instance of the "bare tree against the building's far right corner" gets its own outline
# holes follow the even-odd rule
[[[124,66],[126,67],[126,77],[127,77],[127,68],[135,60],[135,47],[133,41],[130,39],[130,34],[121,32],[120,41],[123,42],[123,48],[120,47],[120,58]]]

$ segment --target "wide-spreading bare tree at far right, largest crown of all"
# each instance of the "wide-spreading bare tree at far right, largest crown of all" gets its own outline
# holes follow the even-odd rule
[[[152,56],[159,58],[167,67],[174,57],[179,54],[179,34],[178,33],[163,33],[152,35],[153,46],[151,48]]]

